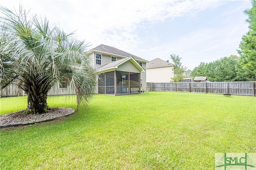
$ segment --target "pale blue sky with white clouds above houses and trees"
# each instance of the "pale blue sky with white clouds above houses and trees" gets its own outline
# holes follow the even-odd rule
[[[147,61],[170,55],[193,70],[201,62],[238,55],[248,31],[244,10],[250,1],[211,0],[0,0],[0,6],[46,17],[66,33],[105,44]],[[1,15],[1,14],[0,14]]]

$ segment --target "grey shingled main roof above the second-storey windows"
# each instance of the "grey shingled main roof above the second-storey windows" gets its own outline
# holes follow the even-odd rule
[[[142,60],[142,61],[146,61],[148,62],[147,60],[145,59],[142,59],[140,57],[137,57],[136,55],[132,55],[130,53],[127,53],[125,51],[122,51],[120,49],[117,49],[115,47],[111,47],[111,46],[108,46],[108,45],[104,45],[104,44],[101,44],[93,49],[91,49],[90,51],[99,51],[99,52],[105,52],[105,53],[110,53],[110,54],[114,54],[114,55],[120,55],[120,56],[124,56],[124,57],[133,57],[134,59],[137,59],[137,60]],[[89,52],[90,52],[89,51]]]

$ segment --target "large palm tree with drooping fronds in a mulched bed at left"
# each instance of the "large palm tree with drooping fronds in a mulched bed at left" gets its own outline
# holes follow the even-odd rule
[[[0,17],[0,73],[1,89],[14,80],[28,95],[28,113],[43,113],[47,93],[56,82],[66,81],[75,90],[77,109],[94,94],[96,73],[90,66],[84,41],[50,27],[46,18],[20,6],[18,12],[1,7]]]

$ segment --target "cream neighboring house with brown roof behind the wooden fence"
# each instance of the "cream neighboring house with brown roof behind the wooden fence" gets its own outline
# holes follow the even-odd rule
[[[169,61],[156,58],[147,63],[147,82],[161,83],[170,82],[174,77],[173,64]]]

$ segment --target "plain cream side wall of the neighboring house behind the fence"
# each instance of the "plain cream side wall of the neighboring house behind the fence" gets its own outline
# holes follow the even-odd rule
[[[172,68],[173,66],[147,68],[147,82],[170,82],[171,78],[174,77]]]

